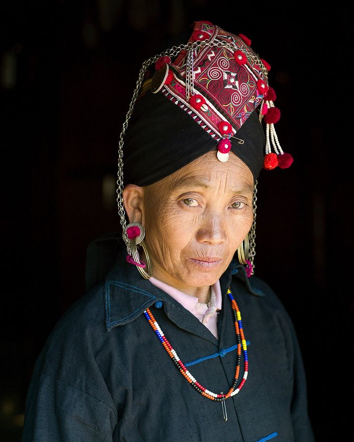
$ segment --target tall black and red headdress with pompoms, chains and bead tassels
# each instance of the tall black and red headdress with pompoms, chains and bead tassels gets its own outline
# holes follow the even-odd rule
[[[138,235],[136,226],[127,230],[123,176],[125,184],[146,186],[210,150],[215,150],[221,162],[232,151],[252,171],[256,215],[260,170],[292,164],[293,158],[283,152],[274,128],[280,111],[274,106],[275,91],[268,85],[270,65],[250,46],[251,41],[242,34],[199,21],[187,43],[143,63],[120,134],[118,155],[117,201],[132,262],[140,262],[132,255],[132,241],[135,246],[144,235],[141,231]],[[249,264],[249,273],[253,272],[254,239],[255,217],[250,261],[239,252],[240,261]]]

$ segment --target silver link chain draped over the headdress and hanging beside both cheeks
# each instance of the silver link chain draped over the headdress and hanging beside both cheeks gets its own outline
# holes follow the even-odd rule
[[[154,55],[153,57],[148,58],[148,60],[145,60],[140,72],[139,72],[139,77],[138,77],[138,81],[136,83],[134,92],[133,92],[133,97],[132,100],[130,102],[129,105],[129,109],[127,111],[127,114],[125,116],[125,120],[123,123],[123,127],[122,127],[122,131],[120,133],[120,137],[119,137],[119,144],[118,144],[118,179],[117,179],[117,203],[118,203],[118,215],[120,217],[120,224],[122,226],[123,229],[123,240],[126,244],[127,247],[127,252],[128,254],[131,254],[131,249],[130,249],[130,244],[129,244],[129,239],[128,239],[128,235],[126,233],[126,220],[125,220],[125,211],[124,211],[124,203],[123,203],[123,137],[125,135],[125,131],[127,130],[128,127],[128,121],[133,113],[133,109],[134,109],[134,105],[135,102],[138,98],[139,95],[139,91],[141,88],[141,85],[144,81],[144,76],[145,73],[148,69],[148,66],[150,66],[150,64],[154,63],[156,60],[158,60],[160,57],[162,56],[176,56],[177,54],[180,53],[180,51],[188,51],[187,52],[187,70],[189,71],[188,74],[188,80],[186,79],[186,88],[187,88],[187,83],[188,84],[188,93],[190,95],[194,94],[193,91],[193,51],[195,51],[197,48],[205,48],[206,46],[210,47],[210,46],[216,46],[217,48],[226,48],[226,49],[230,49],[232,51],[242,51],[248,59],[250,59],[253,63],[257,64],[263,75],[267,78],[268,75],[268,71],[266,70],[266,67],[264,66],[264,64],[262,63],[262,61],[260,60],[260,58],[254,54],[252,51],[248,51],[247,49],[243,49],[240,46],[236,45],[235,43],[232,42],[226,42],[226,41],[210,41],[210,40],[204,40],[204,41],[198,41],[198,42],[188,42],[187,44],[182,44],[179,46],[173,46],[170,49],[167,49],[165,52],[158,54],[158,55]],[[189,60],[189,64],[188,64],[188,60]],[[186,72],[187,75],[187,72]],[[256,182],[257,183],[257,182]],[[254,193],[254,198],[256,198],[256,193],[257,190]],[[254,204],[255,201],[257,200],[254,199]],[[254,210],[254,214],[255,214],[255,210]],[[251,227],[250,232],[253,232],[254,229],[256,228],[256,215],[254,215],[254,220],[253,220],[253,224]],[[252,239],[252,235],[253,235],[253,239]],[[250,261],[253,264],[253,258],[255,255],[255,249],[254,247],[252,247],[253,244],[255,244],[254,242],[254,238],[256,237],[255,233],[251,233],[251,239],[250,239]],[[253,253],[253,255],[252,255]]]

